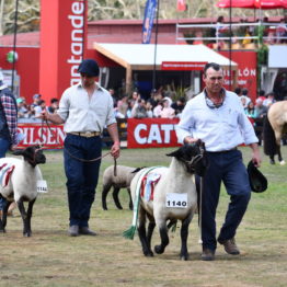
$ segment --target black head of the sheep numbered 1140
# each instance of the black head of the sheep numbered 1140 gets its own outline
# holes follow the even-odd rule
[[[203,176],[207,168],[205,146],[202,140],[182,146],[179,150],[168,154],[181,161],[188,173]]]

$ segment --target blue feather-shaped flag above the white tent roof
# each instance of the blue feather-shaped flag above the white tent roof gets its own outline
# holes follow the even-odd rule
[[[157,0],[148,0],[142,23],[142,44],[150,44],[153,19],[157,9]]]

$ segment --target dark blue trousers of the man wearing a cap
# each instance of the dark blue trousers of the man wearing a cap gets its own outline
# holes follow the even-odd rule
[[[64,147],[70,226],[89,227],[101,160],[83,162],[79,159],[92,160],[101,157],[102,139],[101,137],[84,138],[68,134]]]

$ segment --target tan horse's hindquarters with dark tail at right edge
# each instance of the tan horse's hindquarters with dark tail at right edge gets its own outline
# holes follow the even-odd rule
[[[264,153],[269,156],[272,164],[275,163],[275,154],[278,154],[279,163],[285,164],[280,152],[280,140],[286,133],[287,101],[280,101],[271,105],[264,123]]]

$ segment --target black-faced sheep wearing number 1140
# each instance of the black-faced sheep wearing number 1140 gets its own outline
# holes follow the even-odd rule
[[[192,145],[184,145],[180,149],[167,154],[173,157],[169,168],[153,167],[142,169],[136,174],[130,184],[134,202],[134,219],[129,230],[124,232],[126,238],[133,239],[136,226],[146,256],[153,256],[150,248],[151,237],[156,225],[159,228],[161,243],[154,246],[158,254],[164,252],[169,244],[168,229],[171,222],[180,219],[181,228],[181,259],[187,260],[187,236],[188,226],[197,209],[197,193],[195,186],[195,174],[204,175],[207,165],[204,144],[198,140]],[[147,198],[142,179],[150,174],[159,175],[154,186],[153,196]],[[157,177],[157,176],[154,176]],[[153,199],[151,199],[153,197]],[[138,220],[137,220],[138,217]],[[148,233],[146,234],[146,219],[149,219]],[[167,220],[170,220],[167,227]],[[138,221],[138,222],[137,222]]]

